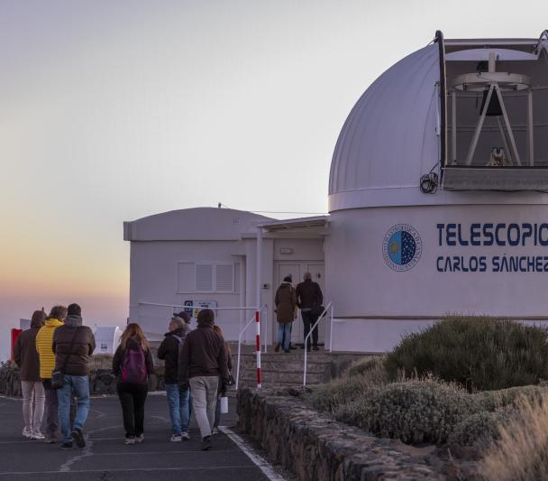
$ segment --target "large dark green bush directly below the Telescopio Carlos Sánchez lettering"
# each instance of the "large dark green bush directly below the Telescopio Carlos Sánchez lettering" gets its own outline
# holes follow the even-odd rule
[[[510,320],[455,317],[408,334],[387,356],[390,379],[432,373],[471,390],[548,379],[548,330]]]

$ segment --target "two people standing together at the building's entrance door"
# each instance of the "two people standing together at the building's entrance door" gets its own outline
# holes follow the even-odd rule
[[[279,352],[283,348],[284,352],[290,352],[291,346],[291,331],[293,321],[297,319],[298,310],[301,311],[303,318],[304,338],[308,336],[310,329],[315,326],[315,322],[322,315],[324,310],[322,304],[324,302],[324,294],[317,282],[312,280],[310,273],[305,273],[303,282],[297,284],[297,288],[293,286],[293,280],[290,275],[284,277],[284,281],[280,284],[274,304],[276,305],[276,319],[279,324],[278,337],[276,339],[275,351]],[[312,342],[310,341],[312,338]],[[303,345],[303,349],[305,345]],[[312,330],[310,337],[306,339],[306,349],[315,351],[318,347],[318,329],[317,326]]]

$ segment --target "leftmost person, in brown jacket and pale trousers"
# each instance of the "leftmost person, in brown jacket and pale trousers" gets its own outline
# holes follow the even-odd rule
[[[23,436],[29,439],[44,439],[40,428],[46,395],[44,386],[41,384],[36,335],[45,320],[46,313],[43,310],[35,310],[32,314],[31,328],[21,333],[14,347],[14,360],[19,366],[23,391]],[[32,402],[34,402],[34,409],[32,409]]]

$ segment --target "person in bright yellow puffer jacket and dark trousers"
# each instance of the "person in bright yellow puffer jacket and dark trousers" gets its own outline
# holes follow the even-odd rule
[[[47,443],[54,443],[59,438],[59,414],[57,391],[51,389],[51,373],[55,368],[55,354],[53,353],[53,333],[63,325],[67,317],[65,306],[53,306],[45,324],[36,335],[36,350],[40,357],[40,376],[46,393],[46,439]]]

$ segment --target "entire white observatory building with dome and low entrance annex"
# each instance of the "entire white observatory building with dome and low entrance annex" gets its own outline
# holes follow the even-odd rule
[[[264,306],[271,342],[279,282],[310,272],[337,351],[386,351],[450,313],[548,323],[548,32],[436,32],[352,108],[328,195],[321,217],[191,208],[124,223],[129,319],[160,333],[179,306],[209,305],[235,340]]]

